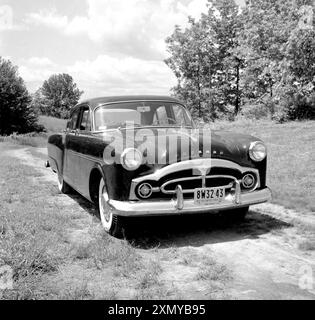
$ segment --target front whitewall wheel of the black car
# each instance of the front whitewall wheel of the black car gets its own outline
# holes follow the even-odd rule
[[[98,208],[105,231],[116,238],[122,238],[121,217],[115,215],[113,208],[109,204],[109,196],[103,178],[99,185]]]

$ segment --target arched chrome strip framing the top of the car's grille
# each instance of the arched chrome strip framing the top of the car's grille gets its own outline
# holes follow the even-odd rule
[[[130,187],[130,193],[129,193],[129,199],[130,200],[138,200],[136,196],[136,186],[144,181],[151,180],[151,181],[159,181],[162,177],[174,173],[179,172],[183,170],[188,169],[195,169],[199,171],[200,176],[202,177],[203,172],[205,169],[207,171],[211,171],[211,168],[227,168],[227,169],[235,169],[241,172],[241,174],[244,174],[245,172],[253,172],[255,173],[257,177],[257,186],[253,188],[253,190],[260,187],[260,176],[259,171],[254,168],[248,168],[248,167],[242,167],[238,165],[235,162],[228,161],[228,160],[222,160],[222,159],[212,159],[212,158],[200,158],[200,159],[194,159],[194,160],[186,160],[181,162],[176,162],[173,164],[170,164],[166,167],[163,167],[153,174],[149,174],[147,176],[143,176],[140,178],[136,178],[132,180],[131,187]]]

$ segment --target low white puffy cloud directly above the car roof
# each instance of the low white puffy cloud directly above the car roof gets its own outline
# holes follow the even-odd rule
[[[80,61],[68,68],[78,82],[88,87],[87,95],[167,94],[176,83],[169,68],[159,61],[100,55],[93,61]]]

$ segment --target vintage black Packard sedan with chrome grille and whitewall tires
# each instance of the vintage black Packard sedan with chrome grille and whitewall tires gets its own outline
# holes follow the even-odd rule
[[[199,130],[185,106],[164,96],[105,97],[71,111],[48,140],[47,167],[61,192],[95,203],[122,235],[123,217],[226,212],[244,218],[271,198],[267,151],[248,135]]]

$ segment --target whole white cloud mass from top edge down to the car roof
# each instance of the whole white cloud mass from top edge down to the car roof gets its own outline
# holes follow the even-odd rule
[[[77,36],[78,41],[90,39],[94,50],[98,48],[94,58],[81,58],[66,66],[56,65],[45,57],[22,61],[20,73],[30,90],[35,91],[51,74],[65,72],[85,91],[84,98],[168,94],[176,85],[176,78],[163,62],[165,38],[175,25],[186,26],[188,16],[198,18],[206,12],[207,0],[86,0],[86,3],[86,14],[73,18],[55,9],[27,15],[28,25],[53,28],[68,37]]]

